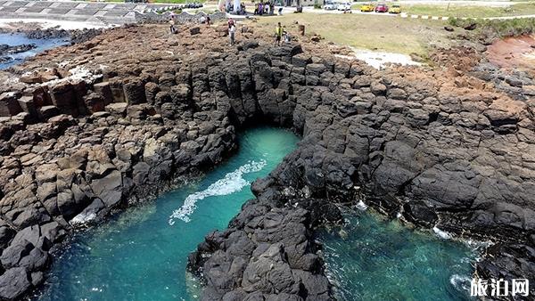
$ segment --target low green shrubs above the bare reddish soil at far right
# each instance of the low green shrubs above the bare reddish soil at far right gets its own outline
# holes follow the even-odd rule
[[[495,39],[502,37],[518,37],[535,33],[535,19],[509,19],[509,20],[462,20],[449,19],[451,26],[467,28],[475,24],[473,36],[479,39]]]

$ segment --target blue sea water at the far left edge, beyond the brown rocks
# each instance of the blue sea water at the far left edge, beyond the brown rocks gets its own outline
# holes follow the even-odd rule
[[[22,61],[29,57],[42,53],[47,49],[53,47],[69,44],[68,39],[64,38],[52,38],[52,39],[36,39],[28,38],[22,34],[0,34],[0,45],[23,45],[23,44],[35,44],[37,47],[24,53],[14,53],[8,56],[12,57],[11,61],[0,62],[0,69],[6,69],[12,65],[20,64]]]

